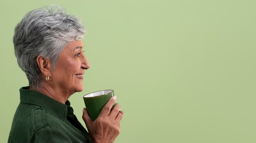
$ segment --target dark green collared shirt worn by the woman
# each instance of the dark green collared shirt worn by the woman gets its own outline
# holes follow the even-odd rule
[[[29,87],[20,89],[8,143],[91,143],[88,132],[65,104]]]

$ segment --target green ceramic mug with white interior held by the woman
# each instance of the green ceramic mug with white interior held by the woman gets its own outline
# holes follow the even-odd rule
[[[89,93],[83,96],[86,109],[92,121],[97,119],[97,117],[101,113],[101,110],[103,109],[105,104],[113,96],[114,96],[114,91],[111,89],[97,91],[97,92]],[[115,104],[113,106],[115,106]]]

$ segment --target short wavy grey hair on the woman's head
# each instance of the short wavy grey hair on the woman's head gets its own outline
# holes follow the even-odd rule
[[[81,20],[66,14],[65,8],[52,5],[28,12],[14,30],[13,43],[18,65],[25,72],[29,86],[40,89],[43,76],[36,58],[49,59],[54,69],[68,42],[80,41],[85,35]]]

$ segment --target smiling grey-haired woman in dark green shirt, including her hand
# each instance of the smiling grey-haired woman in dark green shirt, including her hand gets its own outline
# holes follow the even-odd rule
[[[85,28],[81,20],[58,6],[30,11],[13,37],[18,65],[29,87],[20,89],[9,143],[113,143],[124,112],[116,97],[92,121],[83,109],[88,132],[73,114],[68,98],[83,90],[90,64],[83,54]]]

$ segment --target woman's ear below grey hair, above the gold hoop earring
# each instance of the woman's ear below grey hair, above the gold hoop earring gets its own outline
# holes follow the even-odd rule
[[[49,59],[43,57],[42,55],[37,56],[36,62],[38,64],[38,67],[40,71],[45,75],[45,76],[51,76],[50,71],[52,64]]]

